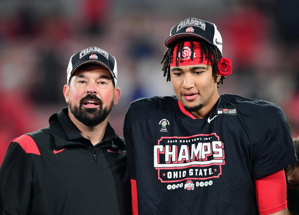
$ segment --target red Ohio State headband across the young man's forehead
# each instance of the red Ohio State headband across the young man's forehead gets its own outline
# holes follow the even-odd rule
[[[178,50],[178,66],[185,66],[185,65],[197,65],[197,64],[205,64],[205,65],[211,65],[211,61],[207,58],[206,54],[203,54],[203,60],[201,58],[202,56],[202,51],[200,48],[200,44],[199,42],[192,42],[193,43],[193,60],[191,60],[191,42],[184,42],[183,45],[183,54],[182,54],[182,62],[181,62],[181,58],[180,58],[180,47],[178,47],[180,45],[180,43],[178,43],[174,49],[173,49],[173,57],[171,59],[171,63],[170,63],[170,67],[175,67],[175,58],[177,55],[177,49]]]

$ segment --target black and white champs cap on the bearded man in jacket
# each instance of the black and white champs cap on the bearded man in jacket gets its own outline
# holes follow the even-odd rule
[[[67,84],[73,75],[74,70],[86,63],[97,63],[108,69],[111,73],[114,84],[117,82],[117,64],[116,59],[104,49],[98,47],[90,47],[77,52],[69,59],[69,66],[67,69]]]

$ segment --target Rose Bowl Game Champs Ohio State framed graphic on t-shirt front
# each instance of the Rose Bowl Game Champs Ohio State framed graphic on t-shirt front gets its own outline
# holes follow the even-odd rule
[[[223,148],[216,133],[161,137],[154,145],[158,179],[166,183],[219,178],[225,165]]]

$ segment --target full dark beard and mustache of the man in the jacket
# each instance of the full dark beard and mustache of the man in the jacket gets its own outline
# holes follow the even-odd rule
[[[83,107],[83,102],[86,100],[95,100],[99,104],[99,108],[86,108]],[[94,127],[100,123],[102,123],[107,116],[110,114],[113,107],[114,99],[109,107],[103,109],[103,102],[99,98],[97,98],[94,94],[88,94],[84,98],[82,98],[79,102],[79,106],[73,105],[69,102],[69,111],[74,115],[76,119],[82,124],[88,127]]]

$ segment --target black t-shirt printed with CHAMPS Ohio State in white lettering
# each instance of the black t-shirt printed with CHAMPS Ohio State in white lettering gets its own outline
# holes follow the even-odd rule
[[[193,119],[175,96],[131,103],[124,123],[140,214],[258,214],[254,179],[296,162],[282,110],[221,95]]]

